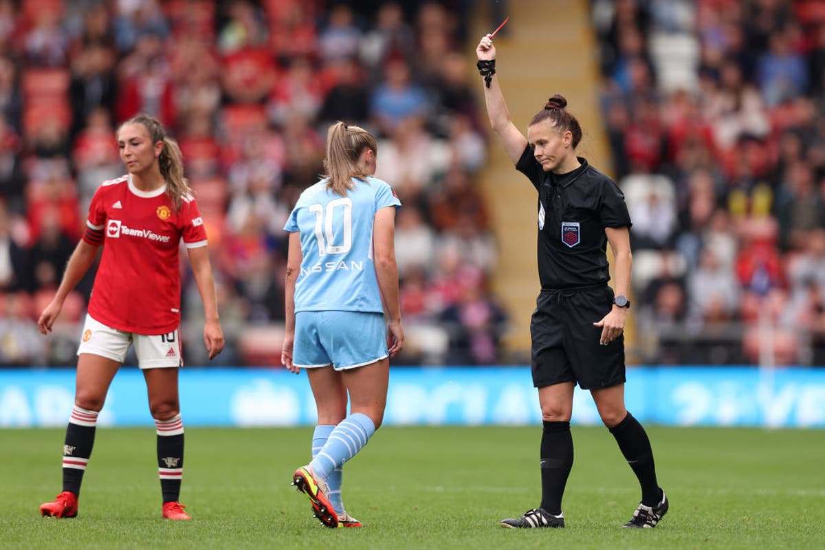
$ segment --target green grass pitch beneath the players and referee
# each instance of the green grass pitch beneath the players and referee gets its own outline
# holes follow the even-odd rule
[[[186,430],[181,501],[160,519],[151,428],[99,429],[75,519],[41,518],[60,490],[63,430],[0,430],[0,548],[823,548],[825,433],[648,429],[671,510],[619,529],[639,502],[607,430],[573,427],[566,529],[502,529],[539,505],[540,427],[379,430],[344,470],[363,529],[325,529],[290,487],[311,427]]]

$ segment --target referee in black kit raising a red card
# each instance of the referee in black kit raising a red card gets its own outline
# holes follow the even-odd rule
[[[576,156],[582,129],[558,94],[516,129],[496,73],[496,48],[485,35],[476,48],[493,130],[516,170],[539,192],[538,263],[541,293],[530,322],[533,383],[544,430],[540,445],[541,504],[502,527],[564,527],[562,496],[573,467],[573,388],[590,390],[601,421],[633,468],[642,501],[625,527],[655,527],[667,512],[653,450],[625,409],[625,316],[630,307],[630,217],[615,183]],[[615,293],[606,244],[615,257]]]

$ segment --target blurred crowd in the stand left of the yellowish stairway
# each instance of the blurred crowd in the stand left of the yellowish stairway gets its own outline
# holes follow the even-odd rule
[[[94,270],[54,336],[40,336],[35,319],[92,194],[125,173],[114,130],[138,113],[172,130],[205,217],[227,339],[219,364],[280,364],[283,227],[323,172],[324,129],[336,120],[380,137],[376,176],[403,202],[399,359],[500,360],[506,315],[488,291],[496,243],[475,185],[486,143],[464,9],[0,0],[0,364],[75,363]],[[191,273],[183,280],[184,356],[205,364],[202,322],[187,322],[202,314],[199,296]]]

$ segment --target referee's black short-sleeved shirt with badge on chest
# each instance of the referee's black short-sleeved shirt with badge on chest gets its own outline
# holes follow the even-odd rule
[[[582,163],[573,172],[544,172],[529,145],[516,170],[539,191],[539,280],[542,289],[606,284],[604,228],[630,227],[625,195],[608,176]]]

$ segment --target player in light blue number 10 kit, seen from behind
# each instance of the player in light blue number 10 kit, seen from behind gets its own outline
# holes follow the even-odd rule
[[[378,143],[342,122],[327,135],[327,176],[301,194],[285,230],[286,322],[281,361],[307,369],[318,407],[313,460],[293,484],[328,527],[361,527],[341,500],[342,466],[381,424],[389,358],[403,348],[395,210],[375,174]],[[350,415],[347,416],[347,398]]]

